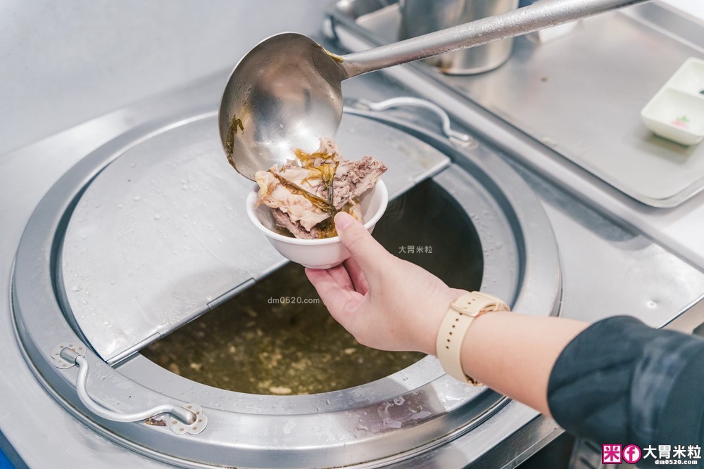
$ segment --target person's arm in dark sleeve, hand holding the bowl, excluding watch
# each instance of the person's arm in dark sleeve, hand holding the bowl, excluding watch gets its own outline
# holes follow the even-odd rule
[[[363,345],[436,354],[446,311],[467,292],[392,256],[348,214],[335,221],[351,259],[306,269],[330,313]],[[488,312],[469,324],[461,365],[575,435],[641,447],[704,444],[704,340],[625,317],[587,326]]]

